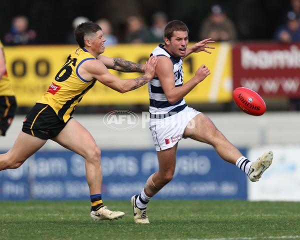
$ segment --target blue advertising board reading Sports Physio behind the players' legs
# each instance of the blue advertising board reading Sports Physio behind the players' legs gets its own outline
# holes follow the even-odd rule
[[[245,154],[245,149],[239,149]],[[158,169],[154,150],[102,150],[103,199],[130,199]],[[84,158],[37,151],[19,168],[0,171],[0,199],[87,199]],[[214,149],[177,151],[173,179],[155,198],[246,199],[246,175]]]

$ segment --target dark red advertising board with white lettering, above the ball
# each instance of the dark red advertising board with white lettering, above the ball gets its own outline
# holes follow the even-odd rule
[[[300,42],[239,42],[232,46],[233,89],[300,98]]]

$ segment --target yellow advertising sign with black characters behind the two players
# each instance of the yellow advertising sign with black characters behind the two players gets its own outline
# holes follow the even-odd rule
[[[118,44],[107,46],[103,54],[144,64],[156,45]],[[187,103],[228,102],[232,99],[231,45],[214,43],[213,46],[215,49],[211,50],[211,54],[192,53],[183,60],[184,82],[194,76],[194,72],[201,64],[205,64],[211,72],[186,95]],[[76,45],[5,46],[7,71],[19,106],[32,106],[40,99],[69,52],[76,47]],[[118,72],[112,69],[109,71],[124,79],[135,78],[141,74]],[[148,103],[147,86],[119,93],[96,82],[83,97],[80,105]]]

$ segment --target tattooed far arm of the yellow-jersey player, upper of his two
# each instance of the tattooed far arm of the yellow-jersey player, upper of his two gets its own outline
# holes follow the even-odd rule
[[[102,61],[107,68],[123,72],[144,72],[145,65],[128,61],[120,57],[108,57],[99,55],[98,60]]]

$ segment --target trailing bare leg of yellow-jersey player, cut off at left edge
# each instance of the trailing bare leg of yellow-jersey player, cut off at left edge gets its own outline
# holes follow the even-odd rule
[[[20,132],[12,148],[0,154],[0,170],[17,168],[45,144],[46,140]]]

